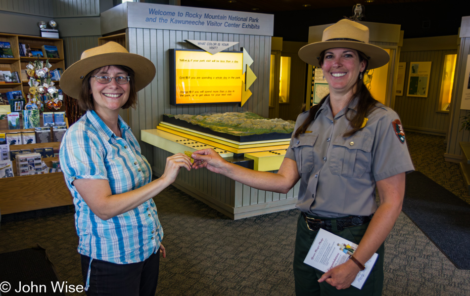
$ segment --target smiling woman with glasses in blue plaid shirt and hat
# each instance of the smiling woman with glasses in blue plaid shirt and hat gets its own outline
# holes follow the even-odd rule
[[[119,111],[134,107],[137,91],[155,76],[148,59],[108,42],[83,52],[60,87],[87,113],[65,133],[60,166],[75,205],[75,226],[87,295],[153,296],[163,230],[152,198],[174,182],[189,157],[167,158],[151,169]]]

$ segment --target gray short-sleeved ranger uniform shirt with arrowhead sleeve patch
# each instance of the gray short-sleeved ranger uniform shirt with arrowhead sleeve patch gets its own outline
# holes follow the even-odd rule
[[[368,216],[377,209],[376,181],[414,170],[405,134],[395,111],[381,103],[354,135],[357,99],[333,118],[329,97],[307,132],[290,140],[286,158],[297,163],[300,189],[296,208],[321,217]],[[294,131],[308,116],[297,118]]]

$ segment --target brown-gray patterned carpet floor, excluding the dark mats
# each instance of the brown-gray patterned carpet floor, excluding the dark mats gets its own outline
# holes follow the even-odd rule
[[[470,201],[458,164],[444,161],[444,137],[409,132],[407,141],[417,170]],[[233,221],[172,186],[154,200],[168,252],[157,295],[294,295],[296,210]],[[82,284],[77,243],[73,207],[1,217],[0,253],[40,244],[72,285]],[[470,296],[470,271],[457,269],[405,214],[385,248],[383,296]]]

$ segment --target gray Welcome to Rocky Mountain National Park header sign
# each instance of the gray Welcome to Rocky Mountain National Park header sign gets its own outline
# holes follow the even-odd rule
[[[273,36],[274,15],[126,2],[128,27]]]

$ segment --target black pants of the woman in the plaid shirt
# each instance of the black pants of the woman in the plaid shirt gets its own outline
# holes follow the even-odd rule
[[[142,262],[115,264],[82,255],[82,276],[87,284],[90,266],[90,287],[87,296],[155,296],[160,252]]]

